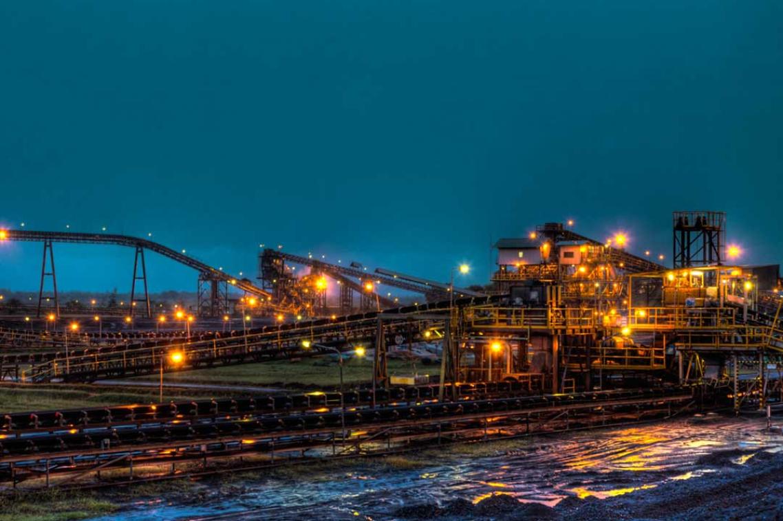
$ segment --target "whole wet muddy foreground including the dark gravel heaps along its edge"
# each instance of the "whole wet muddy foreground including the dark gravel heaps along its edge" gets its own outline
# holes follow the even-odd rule
[[[778,519],[783,435],[766,426],[709,415],[453,446],[200,483],[111,519]]]

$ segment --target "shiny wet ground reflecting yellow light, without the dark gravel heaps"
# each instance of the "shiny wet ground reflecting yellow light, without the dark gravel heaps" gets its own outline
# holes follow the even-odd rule
[[[241,519],[391,519],[403,505],[474,504],[496,494],[554,506],[568,496],[611,498],[716,472],[711,456],[725,451],[744,465],[759,451],[779,451],[783,437],[758,419],[719,416],[580,431],[514,440],[497,452],[428,453],[434,463],[413,469],[357,463],[349,472],[301,472],[298,479],[246,483],[236,497],[197,507],[146,503],[105,519],[193,519],[248,512]],[[417,456],[413,456],[418,458]],[[241,516],[240,516],[241,517]]]

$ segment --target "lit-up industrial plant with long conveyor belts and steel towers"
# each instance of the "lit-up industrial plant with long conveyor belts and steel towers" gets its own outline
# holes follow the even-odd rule
[[[742,264],[726,223],[676,211],[670,253],[632,253],[625,232],[592,239],[547,222],[497,240],[491,279],[470,287],[467,264],[434,281],[263,247],[251,278],[150,238],[4,228],[0,248],[43,253],[37,298],[0,300],[4,383],[148,375],[160,396],[4,412],[0,484],[146,483],[709,411],[769,418],[783,403],[778,265]],[[64,305],[60,243],[127,246],[127,302]],[[150,303],[149,254],[195,271],[194,307]],[[164,400],[175,373],[311,358],[335,363],[333,384]],[[346,384],[359,358],[371,370]],[[395,359],[406,365],[391,372]]]

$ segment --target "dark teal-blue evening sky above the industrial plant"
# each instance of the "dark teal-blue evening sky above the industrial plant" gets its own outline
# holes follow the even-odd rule
[[[781,121],[778,0],[0,3],[0,223],[253,275],[281,243],[484,282],[490,238],[568,217],[670,257],[686,209],[777,263]],[[56,260],[63,289],[129,286],[130,250]],[[39,263],[3,245],[0,287]]]

